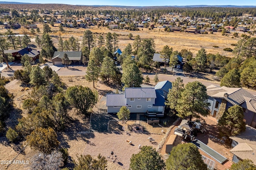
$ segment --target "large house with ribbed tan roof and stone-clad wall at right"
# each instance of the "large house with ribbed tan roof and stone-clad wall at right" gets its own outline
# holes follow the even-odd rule
[[[245,123],[256,127],[256,96],[243,88],[210,85],[206,89],[212,117],[220,119],[229,107],[239,105],[243,108]]]

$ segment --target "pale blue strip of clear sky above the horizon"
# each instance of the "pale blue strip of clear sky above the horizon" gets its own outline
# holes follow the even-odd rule
[[[70,5],[120,5],[120,6],[185,6],[185,5],[236,5],[256,6],[255,0],[0,0],[6,2],[29,2],[40,4]]]

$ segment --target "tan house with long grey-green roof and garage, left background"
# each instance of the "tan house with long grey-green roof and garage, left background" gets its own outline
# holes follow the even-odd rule
[[[68,55],[68,59],[72,62],[71,64],[80,65],[82,63],[82,51],[55,51],[52,57],[52,64],[62,65],[62,58],[65,53]]]

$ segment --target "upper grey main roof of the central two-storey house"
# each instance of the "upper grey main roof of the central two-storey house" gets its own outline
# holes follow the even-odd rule
[[[156,98],[155,88],[125,88],[125,98]]]

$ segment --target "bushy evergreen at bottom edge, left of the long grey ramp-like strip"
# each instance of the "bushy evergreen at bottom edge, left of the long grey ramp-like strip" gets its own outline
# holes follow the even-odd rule
[[[173,147],[166,160],[167,170],[206,170],[198,148],[193,143],[179,144]]]

